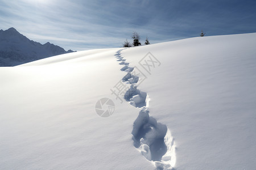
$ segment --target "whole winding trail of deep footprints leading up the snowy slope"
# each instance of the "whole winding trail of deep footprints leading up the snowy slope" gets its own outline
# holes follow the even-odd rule
[[[139,77],[133,75],[134,67],[130,67],[126,59],[121,56],[121,50],[115,53],[119,65],[124,65],[121,71],[127,72],[122,81],[130,84],[129,90],[125,92],[124,98],[136,108],[140,108],[139,116],[134,121],[133,135],[134,147],[151,163],[156,169],[172,169],[176,163],[175,142],[171,131],[166,125],[156,121],[149,116],[150,97],[146,92],[137,89]]]

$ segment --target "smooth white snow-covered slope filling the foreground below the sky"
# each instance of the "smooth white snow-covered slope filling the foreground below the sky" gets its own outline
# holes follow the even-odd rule
[[[0,169],[254,169],[255,45],[256,33],[195,37],[1,67]]]

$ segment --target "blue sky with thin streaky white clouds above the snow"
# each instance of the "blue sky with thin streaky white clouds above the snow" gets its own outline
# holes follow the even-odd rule
[[[249,0],[0,0],[0,29],[64,49],[115,48],[137,31],[151,44],[200,35],[256,32]]]

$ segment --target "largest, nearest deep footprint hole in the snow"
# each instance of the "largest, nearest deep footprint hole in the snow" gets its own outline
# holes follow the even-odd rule
[[[146,107],[139,112],[133,124],[134,147],[149,161],[154,162],[156,169],[172,169],[176,163],[175,143],[170,130],[149,116]]]

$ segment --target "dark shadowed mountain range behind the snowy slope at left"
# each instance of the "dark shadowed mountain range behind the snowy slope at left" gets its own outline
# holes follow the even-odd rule
[[[23,36],[15,28],[0,30],[0,66],[16,66],[42,58],[72,53],[47,42],[40,44]]]

